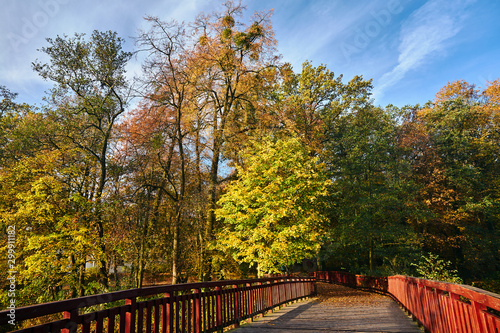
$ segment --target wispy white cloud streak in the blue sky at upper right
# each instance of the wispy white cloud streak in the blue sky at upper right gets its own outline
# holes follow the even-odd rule
[[[373,91],[381,98],[406,73],[418,68],[438,52],[463,28],[466,7],[473,1],[429,0],[403,22],[398,47],[398,64],[382,75]]]

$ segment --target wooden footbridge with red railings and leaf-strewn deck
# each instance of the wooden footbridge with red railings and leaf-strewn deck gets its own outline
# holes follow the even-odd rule
[[[33,305],[0,312],[0,331],[419,332],[402,309],[427,332],[500,333],[500,295],[343,272],[155,286]]]

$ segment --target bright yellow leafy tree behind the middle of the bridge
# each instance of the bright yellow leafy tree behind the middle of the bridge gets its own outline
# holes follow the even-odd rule
[[[323,165],[297,138],[264,138],[242,159],[238,180],[218,202],[216,214],[226,227],[216,247],[257,266],[259,277],[314,256],[326,221]]]

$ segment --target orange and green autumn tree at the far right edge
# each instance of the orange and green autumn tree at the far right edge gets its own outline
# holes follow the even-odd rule
[[[415,201],[425,207],[412,223],[424,236],[423,250],[439,249],[466,278],[500,264],[498,86],[449,83],[405,125]]]

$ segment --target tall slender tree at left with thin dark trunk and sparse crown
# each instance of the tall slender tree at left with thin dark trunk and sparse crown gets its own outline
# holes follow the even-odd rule
[[[87,193],[95,203],[95,231],[103,253],[100,262],[101,283],[108,286],[105,221],[101,204],[108,173],[108,157],[114,126],[125,112],[128,83],[125,65],[131,54],[122,50],[123,40],[114,32],[94,31],[90,40],[83,34],[47,39],[50,46],[41,49],[50,63],[36,62],[33,69],[56,87],[48,114],[58,124],[55,138],[47,138],[58,147],[61,142],[72,145],[88,156],[98,170],[95,189]]]

